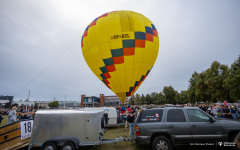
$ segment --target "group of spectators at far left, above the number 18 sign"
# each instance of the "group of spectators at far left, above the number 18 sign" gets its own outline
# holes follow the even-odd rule
[[[0,124],[4,119],[4,116],[7,117],[7,123],[13,123],[18,120],[24,119],[34,119],[36,110],[27,109],[24,107],[16,107],[13,106],[11,109],[9,108],[0,108]]]

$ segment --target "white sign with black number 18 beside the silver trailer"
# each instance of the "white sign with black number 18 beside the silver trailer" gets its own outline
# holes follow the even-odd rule
[[[21,140],[31,137],[33,120],[21,121]]]

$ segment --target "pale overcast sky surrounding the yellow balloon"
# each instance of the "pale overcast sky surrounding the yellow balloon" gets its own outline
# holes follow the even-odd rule
[[[239,0],[0,0],[0,95],[80,100],[114,95],[88,68],[81,37],[96,17],[132,10],[156,26],[155,65],[136,93],[187,90],[194,71],[240,55]]]

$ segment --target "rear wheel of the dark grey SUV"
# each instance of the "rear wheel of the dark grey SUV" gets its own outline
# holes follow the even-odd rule
[[[153,150],[172,150],[172,144],[165,136],[157,136],[152,142]]]

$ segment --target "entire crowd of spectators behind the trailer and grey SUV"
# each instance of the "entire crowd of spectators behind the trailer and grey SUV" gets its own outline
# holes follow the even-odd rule
[[[122,105],[116,106],[116,110],[120,112],[120,118],[122,122],[125,124],[124,131],[126,131],[127,127],[129,126],[129,140],[132,140],[132,132],[134,129],[134,120],[136,119],[137,112],[140,111],[142,108],[147,107],[164,107],[166,105]],[[201,104],[201,105],[192,105],[192,104],[181,104],[181,105],[171,105],[171,106],[178,106],[178,107],[198,107],[199,109],[205,111],[206,113],[210,114],[215,118],[228,118],[233,120],[238,120],[240,118],[240,104],[228,105],[225,101],[224,104]],[[0,108],[0,124],[1,121],[4,119],[3,116],[7,116],[7,121],[9,123],[13,123],[17,120],[24,120],[24,119],[34,119],[36,110],[32,109],[24,109],[24,107],[16,107],[13,106],[11,109],[1,109]],[[238,135],[238,138],[240,134]],[[235,142],[238,144],[237,138]]]

